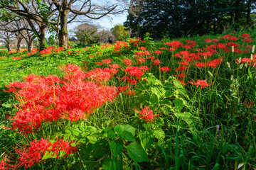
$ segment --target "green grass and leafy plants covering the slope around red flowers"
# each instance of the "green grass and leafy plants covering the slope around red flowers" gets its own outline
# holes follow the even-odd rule
[[[240,35],[242,33],[234,34],[238,38]],[[207,44],[204,42],[206,38],[216,38],[222,43],[229,42],[219,36],[181,38],[179,41],[186,44],[187,39],[195,40],[196,46],[188,51],[196,53],[196,48],[207,51],[206,48],[210,45],[218,44]],[[235,43],[239,43],[238,48],[244,50],[245,45],[254,45],[255,41],[252,40],[245,43],[240,39]],[[173,40],[166,40],[171,41]],[[152,51],[167,47],[163,41],[142,42],[139,47],[142,46],[151,55],[154,55]],[[55,140],[58,136],[80,143],[79,152],[71,154],[70,157],[47,159],[47,162],[32,166],[31,169],[255,169],[256,107],[255,103],[246,106],[245,101],[255,101],[256,70],[250,64],[235,62],[235,59],[251,57],[250,54],[232,52],[232,47],[229,49],[230,52],[223,52],[217,48],[217,53],[211,57],[201,57],[200,62],[223,57],[223,61],[215,69],[198,69],[191,64],[183,72],[186,77],[181,78],[188,83],[186,86],[181,86],[175,80],[176,75],[181,73],[175,71],[181,59],[174,55],[186,50],[184,48],[178,48],[174,52],[163,50],[157,56],[162,61],[161,67],[171,67],[171,71],[165,73],[159,72],[159,68],[150,60],[137,64],[134,54],[140,50],[134,45],[123,47],[122,54],[114,52],[114,47],[101,49],[95,46],[88,47],[87,50],[71,49],[73,54],[70,55],[68,50],[45,56],[38,56],[36,53],[27,57],[26,52],[5,55],[6,58],[0,59],[0,123],[8,127],[11,121],[6,119],[6,115],[8,117],[16,114],[18,110],[13,105],[18,104],[18,101],[14,94],[3,90],[10,82],[23,81],[22,77],[28,74],[45,77],[54,74],[63,77],[64,72],[60,71],[60,65],[78,64],[87,72],[96,67],[106,68],[107,64],[98,66],[95,62],[110,58],[113,63],[121,65],[122,69],[105,85],[118,88],[127,85],[119,79],[127,75],[124,72],[123,59],[129,58],[133,60],[134,66],[146,65],[150,70],[142,76],[147,81],[141,80],[136,86],[129,85],[130,90],[135,91],[134,96],[121,93],[113,102],[97,108],[85,120],[73,123],[69,120],[43,123],[38,133],[29,134],[27,137],[15,131],[1,129],[0,155],[3,158],[6,153],[15,154],[13,146],[21,142],[28,145],[28,139],[40,140],[41,137],[48,137],[49,140]],[[20,60],[12,59],[21,55],[23,57]],[[95,57],[89,58],[88,55]],[[189,84],[198,79],[206,80],[210,86],[200,89]],[[150,107],[158,115],[152,123],[145,123],[137,118],[135,110],[141,111],[144,106]],[[119,125],[129,127],[124,134],[132,134],[122,134],[122,128],[118,129]],[[136,147],[133,153],[135,156],[131,156],[131,147]],[[141,149],[142,152],[139,152]],[[136,154],[140,154],[140,157],[136,157]]]

